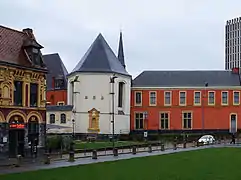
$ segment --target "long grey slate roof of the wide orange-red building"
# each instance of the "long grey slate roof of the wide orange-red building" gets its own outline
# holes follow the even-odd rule
[[[144,71],[137,76],[133,87],[202,87],[240,86],[238,74],[231,71]]]

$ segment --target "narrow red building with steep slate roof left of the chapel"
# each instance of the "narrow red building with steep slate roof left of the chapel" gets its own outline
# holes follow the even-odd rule
[[[44,62],[48,68],[47,74],[47,105],[67,104],[67,79],[68,71],[59,54],[44,55]]]

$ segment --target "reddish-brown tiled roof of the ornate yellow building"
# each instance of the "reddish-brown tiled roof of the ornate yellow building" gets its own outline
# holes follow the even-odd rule
[[[31,34],[29,34],[29,32],[31,32]],[[18,31],[0,25],[0,63],[46,71],[44,64],[42,67],[36,67],[28,57],[24,46],[30,41],[39,45],[39,49],[42,48],[42,46],[37,43],[31,29],[27,28],[23,31]]]

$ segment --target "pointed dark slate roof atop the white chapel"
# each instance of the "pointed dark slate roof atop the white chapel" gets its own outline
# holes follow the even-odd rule
[[[118,73],[130,76],[101,34],[73,69],[72,73],[74,72]]]

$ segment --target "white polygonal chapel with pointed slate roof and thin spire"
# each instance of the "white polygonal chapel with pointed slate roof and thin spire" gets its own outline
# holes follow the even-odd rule
[[[73,105],[75,133],[112,134],[114,127],[115,134],[128,134],[130,93],[122,33],[118,56],[99,34],[68,75],[68,104]]]

